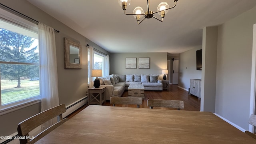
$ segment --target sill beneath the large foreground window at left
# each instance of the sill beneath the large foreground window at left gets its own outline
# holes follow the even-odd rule
[[[34,104],[38,104],[38,103],[40,103],[41,102],[41,100],[40,99],[36,99],[36,100],[31,100],[31,101],[29,101],[29,102],[25,102],[25,103],[23,103],[23,104],[16,104],[16,105],[10,105],[10,106],[6,106],[6,107],[4,107],[4,108],[2,108],[1,110],[0,110],[0,116],[2,116],[2,115],[4,115],[4,114],[8,114],[8,113],[10,113],[10,112],[14,112],[14,111],[16,111],[16,110],[20,110],[20,109],[22,109],[22,108],[26,108],[26,107],[28,107],[28,106],[32,106],[32,105],[34,105]]]

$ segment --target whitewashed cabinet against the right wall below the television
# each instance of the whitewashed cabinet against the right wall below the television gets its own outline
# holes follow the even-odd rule
[[[201,80],[200,79],[190,79],[189,94],[193,94],[194,96],[197,96],[198,99],[201,98]]]

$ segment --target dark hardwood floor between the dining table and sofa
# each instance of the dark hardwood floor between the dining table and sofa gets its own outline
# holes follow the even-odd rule
[[[199,111],[200,110],[200,100],[198,100],[198,97],[189,95],[186,90],[183,90],[181,88],[178,88],[177,84],[170,84],[169,90],[163,90],[163,91],[150,91],[146,90],[144,91],[145,98],[142,101],[142,105],[140,108],[149,108],[147,106],[147,100],[148,98],[154,98],[154,99],[165,99],[165,100],[183,100],[184,101],[184,109],[181,110],[194,110]],[[125,90],[122,94],[122,97],[128,96],[128,90]],[[106,100],[104,106],[112,106],[109,102],[109,100]],[[127,104],[116,104],[116,106],[123,106],[123,107],[134,107],[136,108],[136,105],[127,105]],[[86,108],[87,105],[82,106],[69,116],[68,118],[71,118],[72,116],[76,115],[78,112]],[[154,107],[157,108],[157,107]],[[159,108],[159,109],[172,109],[172,108]]]

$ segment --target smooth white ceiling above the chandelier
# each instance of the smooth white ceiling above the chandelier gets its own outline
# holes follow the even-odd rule
[[[179,54],[202,45],[202,28],[218,26],[256,6],[256,0],[178,0],[164,22],[154,18],[137,24],[117,0],[27,0],[111,53],[168,52]],[[150,0],[150,10],[163,0]],[[173,6],[173,0],[166,0]],[[147,10],[146,0],[131,0]],[[154,16],[160,18],[158,14]],[[58,28],[55,28],[58,29]]]

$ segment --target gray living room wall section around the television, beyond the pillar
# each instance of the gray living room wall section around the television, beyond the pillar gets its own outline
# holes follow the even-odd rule
[[[196,70],[196,50],[200,49],[202,46],[179,54],[179,87],[188,90],[191,78],[202,78],[202,70]]]

